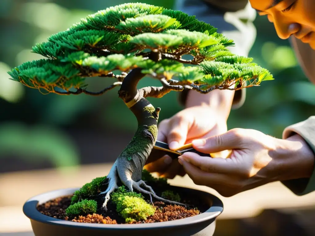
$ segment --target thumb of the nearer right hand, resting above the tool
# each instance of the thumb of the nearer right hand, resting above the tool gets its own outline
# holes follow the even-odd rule
[[[193,140],[192,146],[202,153],[216,153],[230,149],[242,149],[246,138],[243,129],[233,129],[206,139]]]

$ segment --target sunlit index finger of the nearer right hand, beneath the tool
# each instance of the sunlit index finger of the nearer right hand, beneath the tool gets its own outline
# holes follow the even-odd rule
[[[246,174],[247,163],[236,162],[235,159],[230,158],[211,158],[206,156],[200,156],[193,152],[186,152],[179,157],[180,160],[200,168],[203,171],[209,173],[226,173],[231,175]]]

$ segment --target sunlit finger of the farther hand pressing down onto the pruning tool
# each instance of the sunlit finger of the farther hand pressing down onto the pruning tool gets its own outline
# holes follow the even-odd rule
[[[172,118],[166,135],[169,149],[175,150],[185,144],[189,126],[189,121],[181,116]]]

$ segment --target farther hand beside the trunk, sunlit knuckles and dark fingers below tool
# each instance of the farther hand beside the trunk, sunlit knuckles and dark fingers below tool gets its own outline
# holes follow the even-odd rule
[[[226,119],[227,117],[221,115],[218,110],[211,109],[209,106],[186,108],[159,123],[157,140],[168,143],[169,148],[175,150],[186,143],[191,143],[195,138],[207,138],[226,132]],[[227,154],[223,152],[217,155]],[[144,168],[169,179],[186,174],[178,160],[172,160],[168,155],[158,160],[149,157]]]

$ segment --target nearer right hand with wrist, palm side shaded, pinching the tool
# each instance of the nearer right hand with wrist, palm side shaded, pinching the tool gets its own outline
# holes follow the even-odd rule
[[[203,153],[232,150],[226,159],[192,152],[179,157],[195,184],[214,188],[224,197],[273,181],[309,178],[314,169],[314,153],[298,134],[277,139],[256,130],[232,129],[192,143]]]

